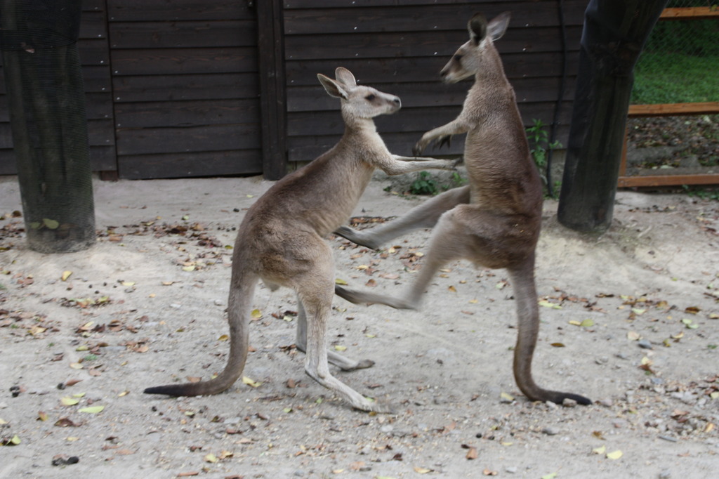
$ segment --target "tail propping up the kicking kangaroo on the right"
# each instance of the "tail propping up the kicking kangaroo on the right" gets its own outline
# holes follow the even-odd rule
[[[532,357],[539,335],[539,305],[534,284],[534,253],[523,263],[508,269],[517,301],[518,334],[514,348],[514,378],[520,390],[531,401],[551,401],[561,404],[564,399],[573,399],[579,404],[592,401],[574,393],[550,391],[537,386],[532,378]]]

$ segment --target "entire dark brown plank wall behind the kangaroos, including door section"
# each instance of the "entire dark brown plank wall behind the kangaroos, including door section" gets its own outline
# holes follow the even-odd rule
[[[119,178],[263,170],[276,177],[342,134],[339,102],[316,79],[337,66],[402,98],[403,109],[377,125],[390,150],[407,154],[423,132],[461,109],[470,81],[446,86],[438,73],[467,40],[467,19],[475,12],[488,18],[512,12],[498,48],[523,119],[551,123],[561,95],[557,138],[564,142],[586,4],[86,0],[79,47],[93,169]],[[442,152],[461,149],[459,141]],[[0,174],[10,173],[12,138],[0,79]]]

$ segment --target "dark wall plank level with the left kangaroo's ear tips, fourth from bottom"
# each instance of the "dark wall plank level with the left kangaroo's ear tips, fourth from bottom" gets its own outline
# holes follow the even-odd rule
[[[451,54],[416,58],[361,58],[314,59],[285,63],[288,86],[316,85],[317,73],[334,77],[334,69],[344,66],[352,70],[357,81],[365,85],[440,81],[439,70],[449,61]],[[559,76],[562,70],[562,53],[509,53],[502,57],[505,74],[510,80],[524,77]],[[579,52],[567,55],[569,76],[577,74]]]

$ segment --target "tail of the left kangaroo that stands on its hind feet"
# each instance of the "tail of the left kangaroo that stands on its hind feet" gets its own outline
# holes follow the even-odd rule
[[[236,267],[239,265],[235,265]],[[257,277],[241,272],[237,268],[229,292],[229,305],[227,309],[229,321],[229,359],[227,365],[216,378],[199,383],[169,384],[168,386],[155,386],[143,391],[146,394],[166,394],[168,396],[204,396],[225,391],[232,386],[242,374],[244,362],[247,360],[249,338],[249,309],[255,293]],[[237,278],[235,278],[237,276]],[[188,354],[191,354],[188,352]]]

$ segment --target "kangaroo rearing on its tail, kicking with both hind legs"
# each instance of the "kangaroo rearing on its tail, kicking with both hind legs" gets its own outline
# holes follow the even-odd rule
[[[534,255],[541,226],[542,188],[529,156],[513,88],[493,43],[504,35],[509,17],[505,12],[488,24],[481,14],[470,19],[470,40],[459,47],[440,75],[446,83],[474,76],[475,83],[459,117],[423,134],[414,148],[419,155],[431,142],[441,146],[449,143],[452,135],[466,132],[464,164],[469,185],[446,191],[382,227],[365,232],[341,227],[336,231],[352,242],[376,249],[411,229],[434,227],[426,264],[416,282],[401,298],[339,286],[335,291],[352,303],[416,309],[436,271],[449,261],[464,258],[487,268],[506,268],[517,304],[513,362],[517,385],[532,401],[562,403],[569,398],[590,404],[584,396],[537,386],[531,374],[539,334]]]

